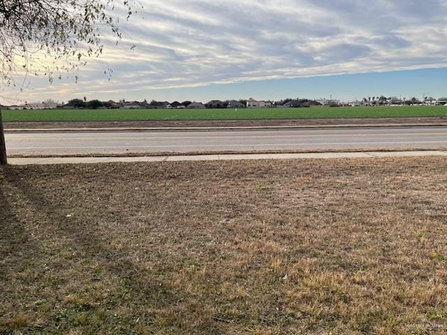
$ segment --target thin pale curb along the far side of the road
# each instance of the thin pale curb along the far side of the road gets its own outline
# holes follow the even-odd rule
[[[166,127],[166,128],[13,128],[5,129],[5,133],[68,133],[68,132],[145,132],[145,131],[262,131],[291,129],[334,129],[334,128],[416,128],[446,127],[447,124],[336,124],[316,126],[241,126],[241,127]]]

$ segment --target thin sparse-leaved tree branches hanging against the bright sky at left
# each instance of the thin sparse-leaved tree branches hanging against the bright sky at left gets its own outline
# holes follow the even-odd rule
[[[103,51],[101,29],[117,42],[117,6],[127,19],[136,0],[0,0],[0,84],[45,73],[52,82]],[[135,5],[136,6],[136,5]],[[101,28],[101,29],[100,29]],[[110,73],[110,72],[109,72]]]

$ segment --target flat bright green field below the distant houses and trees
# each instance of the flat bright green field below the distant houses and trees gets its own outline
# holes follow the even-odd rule
[[[447,117],[446,106],[314,107],[210,110],[3,110],[3,121],[146,121]]]

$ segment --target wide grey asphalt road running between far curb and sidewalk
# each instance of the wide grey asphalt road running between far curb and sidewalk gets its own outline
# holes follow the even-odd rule
[[[446,149],[447,127],[6,133],[10,155]]]

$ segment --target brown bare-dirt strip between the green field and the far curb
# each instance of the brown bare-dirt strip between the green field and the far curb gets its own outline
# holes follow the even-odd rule
[[[418,126],[447,125],[447,117],[402,117],[365,119],[277,119],[277,120],[215,120],[215,121],[94,121],[94,122],[5,122],[8,129],[23,128],[187,128],[187,127],[291,127],[291,126],[359,126],[359,125]]]

